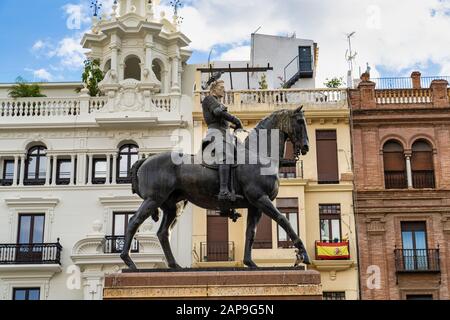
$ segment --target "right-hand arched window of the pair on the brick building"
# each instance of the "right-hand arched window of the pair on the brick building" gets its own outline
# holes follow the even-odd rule
[[[433,148],[427,141],[418,140],[414,142],[411,169],[414,188],[435,188]]]

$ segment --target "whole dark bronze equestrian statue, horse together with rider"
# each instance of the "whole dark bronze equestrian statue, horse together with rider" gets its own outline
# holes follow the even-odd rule
[[[247,267],[257,268],[252,260],[252,247],[256,227],[263,214],[276,221],[292,240],[297,248],[296,264],[310,264],[303,242],[272,202],[278,195],[278,171],[283,164],[286,142],[290,140],[294,144],[296,159],[309,151],[303,107],[273,112],[257,124],[245,141],[240,142],[231,130],[236,133],[243,130],[243,125],[221,103],[225,89],[219,78],[220,74],[213,75],[208,81],[210,94],[202,102],[208,126],[199,151],[203,160],[179,163],[173,160],[174,152],[166,152],[138,160],[131,169],[133,193],[144,201],[128,224],[120,255],[130,269],[137,269],[129,255],[134,236],[149,217],[159,220],[159,209],[162,221],[157,236],[167,264],[172,269],[181,268],[173,256],[169,238],[180,208],[182,210],[188,202],[220,211],[221,215],[233,221],[240,217],[236,209],[247,209],[243,261]],[[262,152],[263,149],[267,150]],[[175,156],[193,160],[198,155],[177,152]],[[237,156],[244,161],[236,161]]]

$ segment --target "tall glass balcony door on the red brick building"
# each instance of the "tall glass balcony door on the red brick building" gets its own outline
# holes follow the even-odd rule
[[[402,222],[403,263],[405,270],[428,270],[425,222]]]

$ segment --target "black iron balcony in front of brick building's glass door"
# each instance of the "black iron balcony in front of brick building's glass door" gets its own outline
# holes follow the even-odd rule
[[[441,272],[439,249],[395,249],[397,273]]]

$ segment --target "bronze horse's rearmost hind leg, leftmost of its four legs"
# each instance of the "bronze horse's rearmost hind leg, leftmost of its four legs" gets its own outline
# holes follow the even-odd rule
[[[123,245],[123,250],[120,257],[130,269],[137,269],[133,260],[130,258],[131,243],[133,242],[134,236],[136,235],[139,227],[155,210],[158,210],[158,203],[152,199],[145,199],[138,211],[136,211],[128,223],[127,232],[125,234],[125,243]]]

